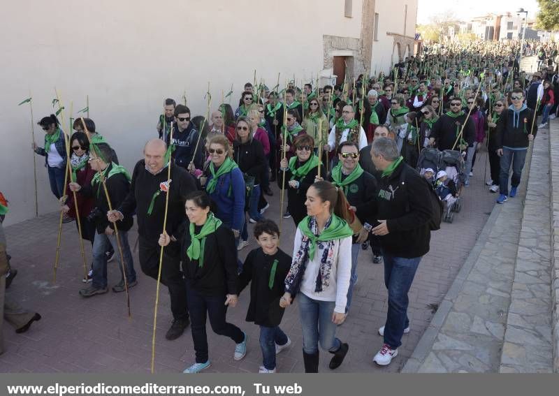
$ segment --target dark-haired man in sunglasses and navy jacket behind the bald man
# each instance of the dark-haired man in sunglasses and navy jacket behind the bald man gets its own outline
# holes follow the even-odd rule
[[[194,123],[190,122],[190,109],[185,105],[177,105],[175,108],[176,124],[173,125],[173,139],[171,144],[175,146],[172,156],[175,164],[181,168],[187,168],[190,172],[194,172],[194,168],[202,169],[204,163],[203,144],[198,144],[198,136],[200,133],[196,131]],[[167,137],[169,144],[170,135]]]

